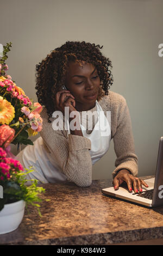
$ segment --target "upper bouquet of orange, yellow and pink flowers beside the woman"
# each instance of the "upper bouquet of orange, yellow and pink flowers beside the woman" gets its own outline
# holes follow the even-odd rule
[[[35,136],[42,129],[42,106],[30,100],[11,76],[6,75],[8,65],[5,59],[10,47],[11,42],[4,46],[0,59],[0,146],[5,148],[10,143],[33,145],[28,137]]]

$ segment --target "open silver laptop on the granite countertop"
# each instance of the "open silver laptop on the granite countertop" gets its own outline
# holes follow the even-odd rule
[[[147,179],[145,182],[148,184],[148,188],[142,185],[142,192],[130,193],[127,185],[121,185],[118,190],[114,190],[114,187],[103,188],[102,193],[148,207],[163,205],[163,137],[159,141],[155,178]]]

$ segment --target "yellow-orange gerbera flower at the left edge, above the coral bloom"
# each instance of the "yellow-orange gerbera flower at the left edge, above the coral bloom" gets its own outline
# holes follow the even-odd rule
[[[0,124],[10,124],[15,117],[15,108],[0,96]]]

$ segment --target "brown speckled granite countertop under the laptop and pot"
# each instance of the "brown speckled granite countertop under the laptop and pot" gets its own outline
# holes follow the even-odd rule
[[[17,230],[0,235],[0,244],[108,245],[163,237],[163,206],[149,209],[106,197],[101,190],[109,186],[111,179],[93,180],[90,187],[42,185],[41,198],[51,199],[42,201],[42,217],[30,207]]]

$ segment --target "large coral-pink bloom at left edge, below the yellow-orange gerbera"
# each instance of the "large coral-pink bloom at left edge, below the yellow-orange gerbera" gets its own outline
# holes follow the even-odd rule
[[[2,146],[2,144],[5,142],[3,147],[7,148],[14,136],[15,130],[12,129],[9,125],[3,124],[0,126],[0,146]]]

